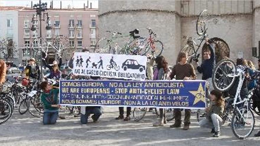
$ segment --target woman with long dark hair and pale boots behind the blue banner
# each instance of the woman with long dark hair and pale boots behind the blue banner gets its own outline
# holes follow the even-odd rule
[[[153,74],[153,80],[166,80],[167,73],[169,72],[168,62],[163,56],[158,56],[155,59],[155,63],[157,67]],[[160,109],[160,119],[158,122],[153,123],[153,126],[163,126],[163,124],[166,124],[165,109]]]

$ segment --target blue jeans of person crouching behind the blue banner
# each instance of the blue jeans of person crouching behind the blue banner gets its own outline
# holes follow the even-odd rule
[[[92,119],[94,121],[97,121],[98,118],[102,115],[102,110],[100,109],[100,107],[86,107],[86,113],[85,114],[81,114],[80,116],[80,122],[81,124],[87,124],[87,119],[90,116],[90,114],[94,114],[92,116]]]

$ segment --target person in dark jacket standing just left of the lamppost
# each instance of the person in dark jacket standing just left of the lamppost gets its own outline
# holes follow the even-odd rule
[[[40,68],[35,64],[34,58],[31,58],[29,64],[25,67],[25,75],[30,78],[40,79]]]

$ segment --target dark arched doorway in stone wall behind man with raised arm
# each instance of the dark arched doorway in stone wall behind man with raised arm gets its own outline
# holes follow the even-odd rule
[[[218,38],[218,37],[213,37],[211,39],[209,39],[209,42],[212,42],[212,46],[214,47],[214,51],[215,51],[215,60],[216,60],[216,64],[222,60],[224,57],[228,57],[229,58],[229,55],[230,55],[230,50],[229,50],[229,47],[228,47],[228,44]],[[207,49],[207,44],[204,43],[203,47],[202,47],[202,54],[204,52],[205,49]],[[202,56],[202,61],[203,61],[203,56]]]

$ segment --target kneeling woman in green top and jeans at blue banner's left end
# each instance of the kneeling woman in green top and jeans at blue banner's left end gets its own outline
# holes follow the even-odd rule
[[[40,88],[43,90],[41,95],[41,101],[44,105],[43,112],[43,124],[55,124],[58,118],[58,92],[59,89],[53,89],[51,85],[44,81],[40,84]]]

